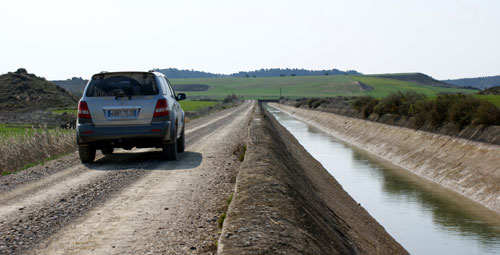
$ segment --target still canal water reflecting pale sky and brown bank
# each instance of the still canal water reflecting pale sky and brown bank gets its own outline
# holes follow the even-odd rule
[[[266,106],[411,254],[500,254],[500,216]]]

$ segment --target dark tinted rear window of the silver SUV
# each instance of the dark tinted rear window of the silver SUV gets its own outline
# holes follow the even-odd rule
[[[158,85],[150,73],[109,73],[92,77],[86,96],[149,96],[158,95]]]

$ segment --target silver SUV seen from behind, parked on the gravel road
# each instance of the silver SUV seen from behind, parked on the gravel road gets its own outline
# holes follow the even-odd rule
[[[83,163],[96,150],[162,148],[167,160],[184,151],[184,111],[165,75],[102,72],[92,76],[78,103],[77,143]]]

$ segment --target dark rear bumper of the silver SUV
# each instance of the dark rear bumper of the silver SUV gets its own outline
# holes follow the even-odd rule
[[[170,122],[151,123],[147,126],[94,126],[78,124],[76,128],[79,145],[89,143],[133,143],[172,140]]]

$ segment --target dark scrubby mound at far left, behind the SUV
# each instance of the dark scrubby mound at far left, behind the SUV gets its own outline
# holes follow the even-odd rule
[[[78,98],[24,68],[0,75],[0,112],[76,107]]]

